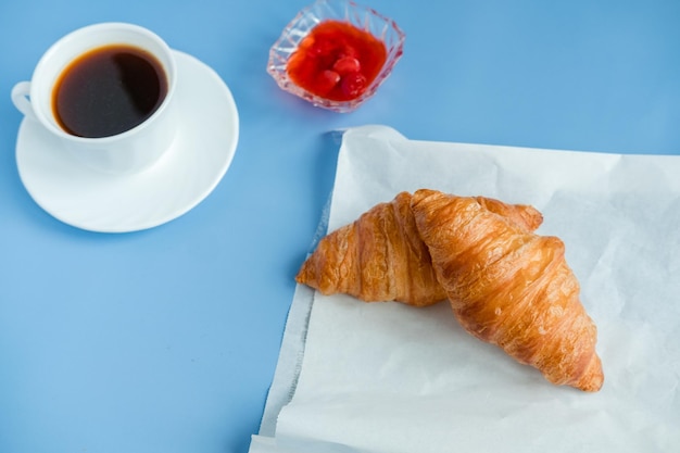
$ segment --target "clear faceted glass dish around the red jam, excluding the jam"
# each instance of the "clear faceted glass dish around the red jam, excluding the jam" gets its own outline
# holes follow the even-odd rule
[[[298,50],[300,42],[315,26],[329,20],[349,22],[356,28],[372,34],[385,43],[387,50],[387,60],[378,75],[358,97],[351,100],[337,101],[314,95],[291,80],[287,71],[288,61]],[[404,51],[405,38],[394,21],[370,8],[358,5],[351,0],[318,0],[300,11],[284,28],[281,36],[269,50],[267,73],[281,89],[316,106],[340,113],[352,112],[374,96],[378,87],[389,77]]]

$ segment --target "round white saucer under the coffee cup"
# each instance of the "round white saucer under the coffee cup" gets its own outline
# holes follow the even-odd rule
[[[26,190],[58,219],[91,231],[136,231],[169,222],[199,204],[227,172],[239,135],[231,91],[204,63],[175,51],[179,129],[151,168],[109,175],[70,158],[38,123],[24,118],[16,165]]]

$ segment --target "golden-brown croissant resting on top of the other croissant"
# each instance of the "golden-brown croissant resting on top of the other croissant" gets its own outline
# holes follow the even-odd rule
[[[474,198],[421,189],[412,210],[455,317],[468,332],[555,385],[600,390],[596,327],[558,238],[518,227]]]

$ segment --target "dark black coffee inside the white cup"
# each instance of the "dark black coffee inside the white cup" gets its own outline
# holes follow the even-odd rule
[[[109,137],[142,123],[167,95],[167,77],[150,53],[106,46],[74,60],[52,92],[59,125],[78,137]]]

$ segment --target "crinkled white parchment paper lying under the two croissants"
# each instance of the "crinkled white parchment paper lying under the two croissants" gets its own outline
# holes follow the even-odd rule
[[[605,383],[549,383],[455,322],[446,303],[295,292],[251,453],[680,451],[680,156],[344,133],[328,230],[399,191],[538,207],[599,328]]]

